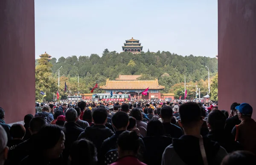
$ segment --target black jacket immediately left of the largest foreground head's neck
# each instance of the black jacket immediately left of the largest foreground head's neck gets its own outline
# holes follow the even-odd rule
[[[172,123],[163,122],[163,128],[165,131],[165,135],[169,135],[173,138],[179,138],[183,135],[183,131],[181,130],[181,128]]]

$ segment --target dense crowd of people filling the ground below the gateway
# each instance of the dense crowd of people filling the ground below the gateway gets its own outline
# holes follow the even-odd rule
[[[131,100],[36,103],[24,125],[0,107],[0,165],[255,165],[253,108]]]

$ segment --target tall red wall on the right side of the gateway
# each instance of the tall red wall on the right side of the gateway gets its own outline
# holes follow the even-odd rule
[[[218,0],[218,104],[247,102],[256,119],[256,0]]]

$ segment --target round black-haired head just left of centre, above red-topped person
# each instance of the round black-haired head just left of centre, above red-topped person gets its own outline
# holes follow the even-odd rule
[[[129,122],[128,114],[122,111],[116,112],[111,119],[116,129],[127,127]]]

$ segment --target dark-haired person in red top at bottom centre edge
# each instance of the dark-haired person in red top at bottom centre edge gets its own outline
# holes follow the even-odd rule
[[[136,157],[140,148],[140,139],[135,131],[124,131],[117,140],[119,159],[111,165],[145,165]]]

